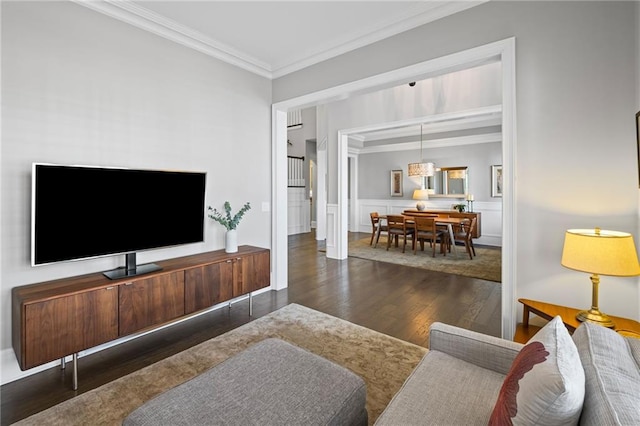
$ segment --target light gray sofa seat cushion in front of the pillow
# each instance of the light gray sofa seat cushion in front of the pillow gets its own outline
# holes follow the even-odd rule
[[[429,351],[376,421],[378,425],[486,425],[504,375]]]

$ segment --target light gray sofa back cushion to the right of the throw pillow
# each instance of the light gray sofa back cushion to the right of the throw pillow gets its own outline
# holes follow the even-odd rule
[[[640,425],[640,339],[584,323],[573,340],[586,377],[580,424]]]

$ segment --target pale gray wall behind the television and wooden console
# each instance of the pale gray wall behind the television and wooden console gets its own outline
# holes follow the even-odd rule
[[[207,205],[252,204],[239,243],[270,247],[271,218],[261,205],[271,199],[271,82],[71,2],[1,7],[4,383],[7,368],[17,368],[11,288],[123,263],[119,256],[29,266],[31,163],[205,171]],[[149,206],[149,220],[165,202],[176,200]],[[204,243],[138,261],[220,249],[223,231],[207,220]]]

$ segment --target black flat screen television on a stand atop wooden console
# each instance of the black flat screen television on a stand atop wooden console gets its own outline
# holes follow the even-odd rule
[[[31,263],[125,254],[111,279],[159,269],[142,250],[204,241],[206,174],[34,163]]]

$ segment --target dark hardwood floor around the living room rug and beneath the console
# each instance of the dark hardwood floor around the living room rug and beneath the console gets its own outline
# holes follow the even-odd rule
[[[367,234],[350,234],[350,239]],[[222,308],[0,388],[1,424],[8,425],[139,370],[184,349],[273,312],[289,303],[343,318],[427,347],[434,321],[500,335],[499,283],[364,259],[327,259],[315,234],[289,237],[289,287]]]

